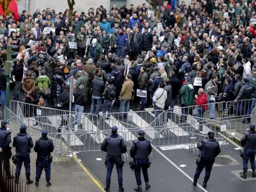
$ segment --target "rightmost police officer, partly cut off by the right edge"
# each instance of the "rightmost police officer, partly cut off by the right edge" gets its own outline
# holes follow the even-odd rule
[[[241,139],[241,145],[244,147],[244,157],[242,158],[242,167],[244,172],[242,173],[242,178],[247,178],[247,164],[250,159],[250,165],[252,167],[252,177],[255,175],[255,148],[256,148],[256,132],[255,125],[250,123],[250,130],[244,133]]]

